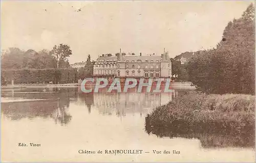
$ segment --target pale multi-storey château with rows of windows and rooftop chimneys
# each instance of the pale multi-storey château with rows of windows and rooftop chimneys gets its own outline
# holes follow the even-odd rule
[[[120,53],[119,53],[120,54]],[[94,62],[94,77],[101,78],[170,78],[172,63],[168,53],[161,56],[101,56]]]

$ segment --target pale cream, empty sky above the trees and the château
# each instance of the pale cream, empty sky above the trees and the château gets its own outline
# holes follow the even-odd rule
[[[139,55],[215,48],[253,1],[1,1],[1,49],[70,45],[70,63],[119,49]]]

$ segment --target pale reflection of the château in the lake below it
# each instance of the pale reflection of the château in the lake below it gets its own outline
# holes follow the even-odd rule
[[[79,98],[84,101],[89,110],[93,105],[100,114],[125,116],[127,113],[142,115],[178,96],[178,92],[175,90],[171,93],[146,92],[145,89],[138,93],[137,87],[134,88],[135,91],[127,93],[108,93],[106,90],[101,89],[98,93],[93,94],[81,94]]]

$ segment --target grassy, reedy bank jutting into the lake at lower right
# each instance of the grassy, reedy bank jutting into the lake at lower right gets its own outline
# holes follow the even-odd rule
[[[189,135],[201,133],[254,137],[254,98],[251,95],[205,95],[190,91],[155,108],[145,118],[145,129],[148,133],[169,137],[183,135],[191,138]],[[254,138],[250,144],[254,144]]]

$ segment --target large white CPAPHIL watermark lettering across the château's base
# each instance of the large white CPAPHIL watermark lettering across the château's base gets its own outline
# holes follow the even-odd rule
[[[146,80],[146,81],[145,81]],[[102,88],[107,88],[106,92],[129,92],[129,89],[136,87],[136,92],[173,92],[170,88],[170,78],[125,78],[125,81],[121,82],[120,78],[114,78],[109,81],[106,78],[86,78],[82,81],[80,89],[84,93],[99,92]]]

